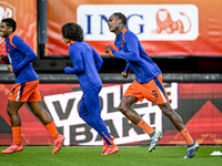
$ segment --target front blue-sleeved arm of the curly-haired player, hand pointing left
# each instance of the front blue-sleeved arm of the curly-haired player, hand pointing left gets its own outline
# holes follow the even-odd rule
[[[64,73],[67,74],[80,74],[84,71],[84,65],[82,61],[81,51],[79,48],[71,48],[70,52],[70,60],[72,62],[73,68],[64,68]]]

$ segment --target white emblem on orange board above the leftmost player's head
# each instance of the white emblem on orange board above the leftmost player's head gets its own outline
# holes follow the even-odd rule
[[[0,20],[6,18],[16,20],[16,8],[8,2],[0,1]]]

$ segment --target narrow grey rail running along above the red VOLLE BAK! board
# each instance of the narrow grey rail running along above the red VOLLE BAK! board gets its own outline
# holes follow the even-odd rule
[[[40,83],[79,83],[74,74],[38,74]],[[123,79],[120,73],[100,73],[103,83],[130,83],[134,74]],[[0,72],[0,83],[13,83],[14,75]],[[163,73],[163,82],[171,83],[222,83],[221,73]]]

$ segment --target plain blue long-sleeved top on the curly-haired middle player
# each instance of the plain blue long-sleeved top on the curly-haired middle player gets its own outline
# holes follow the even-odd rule
[[[102,66],[103,60],[90,44],[83,41],[74,41],[69,46],[69,54],[73,68],[67,66],[64,73],[77,74],[83,92],[102,86],[98,72]]]

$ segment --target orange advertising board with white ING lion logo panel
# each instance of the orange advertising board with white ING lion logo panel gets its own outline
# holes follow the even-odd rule
[[[219,0],[48,0],[47,55],[68,55],[61,27],[78,22],[84,40],[99,54],[105,43],[113,45],[108,19],[113,12],[128,18],[128,28],[152,56],[222,55],[222,1]]]

